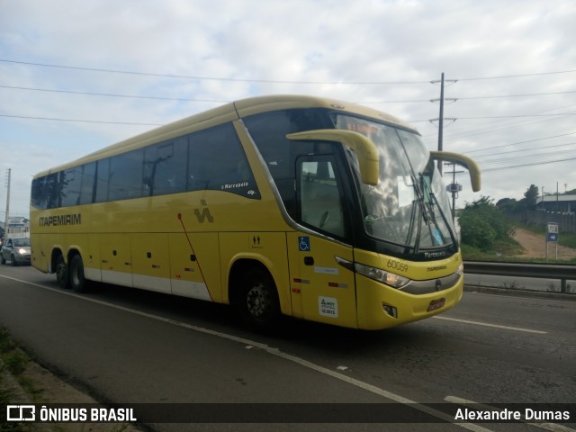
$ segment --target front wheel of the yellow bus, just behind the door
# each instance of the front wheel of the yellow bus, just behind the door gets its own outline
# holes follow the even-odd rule
[[[248,326],[258,330],[274,329],[281,313],[272,275],[263,268],[249,268],[242,277],[236,306]]]

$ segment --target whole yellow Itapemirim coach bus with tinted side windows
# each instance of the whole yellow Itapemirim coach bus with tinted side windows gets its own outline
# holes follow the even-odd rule
[[[384,329],[462,297],[459,240],[435,160],[388,114],[309,96],[228,103],[35,175],[31,262],[87,281]]]

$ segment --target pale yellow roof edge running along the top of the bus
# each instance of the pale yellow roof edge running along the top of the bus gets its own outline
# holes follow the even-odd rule
[[[124,139],[116,144],[112,144],[111,146],[96,150],[94,153],[90,153],[85,157],[80,157],[79,159],[66,164],[44,170],[34,175],[34,177],[49,175],[50,173],[58,172],[67,169],[68,167],[80,166],[87,162],[102,159],[104,157],[111,157],[135,148],[148,146],[167,139],[173,139],[195,130],[216,126],[227,121],[238,120],[260,112],[272,112],[295,108],[328,108],[337,112],[356,113],[365,117],[384,121],[393,126],[399,126],[402,129],[417,131],[408,122],[401,121],[390,114],[357,103],[343,102],[324,97],[294,94],[257,96],[242,99],[237,102],[226,103],[217,108],[193,114],[182,120],[168,123],[153,130],[148,130],[148,132],[141,133],[129,139]]]

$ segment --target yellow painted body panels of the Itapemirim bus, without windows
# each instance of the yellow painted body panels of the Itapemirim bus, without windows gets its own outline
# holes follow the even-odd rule
[[[256,261],[266,266],[274,278],[285,315],[359,329],[389,328],[454,307],[462,297],[462,277],[449,290],[413,295],[357,275],[338,264],[336,257],[383,270],[389,270],[387,263],[392,259],[405,265],[406,270],[400,275],[431,280],[454,274],[462,263],[460,254],[435,262],[401,261],[355,249],[299,229],[286,220],[238,115],[303,105],[333,107],[335,103],[288,96],[228,104],[39,173],[38,176],[47,175],[233,121],[261,198],[249,199],[209,190],[46,211],[31,207],[32,265],[40,271],[53,272],[55,250],[61,251],[65,259],[70,253],[78,253],[83,259],[85,276],[90,280],[229,303],[229,289],[234,290],[238,284],[230,280],[231,269],[243,260]],[[338,105],[338,109],[348,110],[348,107]],[[377,113],[357,106],[349,112],[374,117]],[[382,117],[381,113],[379,116]],[[386,120],[410,128],[393,117]],[[81,223],[40,225],[42,217],[67,215],[80,215]],[[302,241],[307,247],[302,247]],[[430,270],[433,267],[442,268]],[[440,297],[446,299],[445,306],[428,312],[430,302]],[[398,318],[386,314],[383,304],[396,307]]]

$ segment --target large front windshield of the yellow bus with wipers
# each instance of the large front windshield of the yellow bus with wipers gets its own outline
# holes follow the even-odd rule
[[[338,129],[371,139],[380,155],[376,185],[358,182],[366,233],[374,238],[421,249],[455,244],[450,205],[440,174],[418,134],[375,121],[338,115]],[[348,157],[360,178],[356,155]]]

